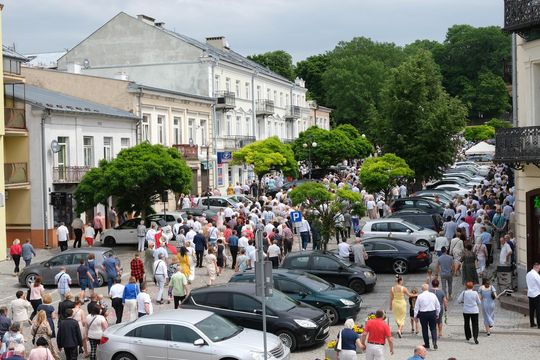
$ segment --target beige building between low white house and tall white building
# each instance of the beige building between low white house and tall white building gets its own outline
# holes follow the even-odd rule
[[[177,148],[192,169],[193,193],[213,187],[211,166],[215,159],[209,141],[213,137],[213,99],[138,85],[126,80],[125,74],[111,79],[28,67],[23,68],[22,73],[29,85],[137,115],[140,118],[138,141]],[[210,144],[209,148],[205,144]],[[172,194],[169,204],[171,201]]]

